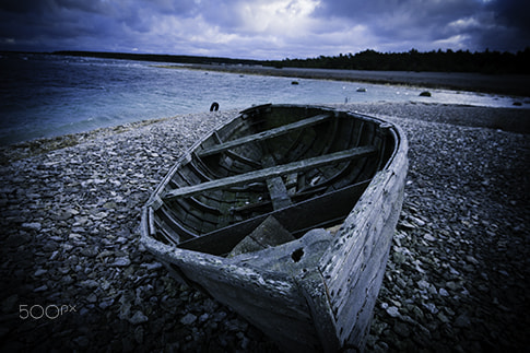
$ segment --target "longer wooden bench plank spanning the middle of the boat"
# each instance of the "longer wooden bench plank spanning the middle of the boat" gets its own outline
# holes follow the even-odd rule
[[[370,155],[375,152],[377,152],[377,148],[372,145],[361,146],[361,148],[351,149],[351,150],[344,150],[335,153],[321,155],[318,157],[278,165],[278,166],[264,168],[261,170],[254,170],[242,175],[235,175],[235,176],[231,176],[222,179],[181,187],[175,190],[167,191],[162,199],[170,200],[178,197],[190,197],[204,191],[227,188],[227,187],[250,183],[250,181],[263,180],[263,179],[281,176],[284,174],[306,170],[310,168],[317,168],[331,163],[360,158],[360,157]]]

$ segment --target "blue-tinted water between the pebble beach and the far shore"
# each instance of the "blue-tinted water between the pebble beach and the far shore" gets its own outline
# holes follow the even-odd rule
[[[293,81],[298,84],[292,84]],[[363,87],[366,92],[357,92]],[[153,62],[1,55],[0,144],[254,104],[431,102],[511,107],[513,98],[396,85],[174,70]]]

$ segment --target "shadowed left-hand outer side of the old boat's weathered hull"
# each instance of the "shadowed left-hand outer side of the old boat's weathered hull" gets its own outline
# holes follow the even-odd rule
[[[153,240],[145,244],[163,262],[177,267],[188,278],[187,281],[196,283],[220,302],[229,303],[232,308],[266,334],[279,338],[283,342],[283,350],[318,350],[319,341],[306,301],[299,295],[291,275],[251,264],[242,266],[239,257],[227,259],[178,248],[167,249],[162,243]],[[296,243],[285,246],[283,252],[287,258],[292,249],[298,247]]]

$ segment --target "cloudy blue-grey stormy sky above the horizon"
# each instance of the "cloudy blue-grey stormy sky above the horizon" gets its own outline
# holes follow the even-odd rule
[[[518,51],[528,0],[0,0],[0,50],[247,59]]]

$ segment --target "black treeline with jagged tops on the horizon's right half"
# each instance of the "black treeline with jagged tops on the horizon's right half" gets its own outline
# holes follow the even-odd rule
[[[481,73],[530,73],[530,47],[517,54],[485,50],[437,50],[420,52],[377,52],[365,50],[355,55],[320,56],[314,59],[269,61],[274,67],[321,68],[379,71],[437,71]]]

